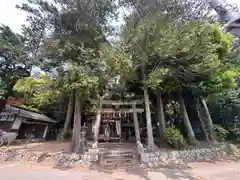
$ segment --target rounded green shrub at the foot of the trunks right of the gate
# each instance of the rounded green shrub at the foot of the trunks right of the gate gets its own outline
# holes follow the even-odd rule
[[[177,148],[177,149],[183,149],[183,148],[187,147],[187,143],[186,143],[183,135],[181,134],[179,129],[177,129],[174,126],[168,127],[166,129],[166,141],[171,146],[173,146],[174,148]]]

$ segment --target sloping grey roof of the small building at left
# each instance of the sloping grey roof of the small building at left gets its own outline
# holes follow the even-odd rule
[[[31,110],[23,109],[20,107],[14,107],[10,105],[6,105],[5,110],[13,114],[17,114],[21,117],[25,117],[25,118],[29,118],[37,121],[56,123],[56,121],[50,119],[49,117],[45,116],[40,112],[31,111]]]

